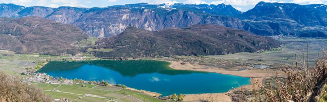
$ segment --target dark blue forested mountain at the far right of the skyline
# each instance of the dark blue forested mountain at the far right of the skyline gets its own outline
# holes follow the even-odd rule
[[[254,34],[308,37],[302,33],[321,32],[327,35],[327,11],[310,5],[261,1],[253,9],[238,15],[238,18],[244,21],[244,30]]]

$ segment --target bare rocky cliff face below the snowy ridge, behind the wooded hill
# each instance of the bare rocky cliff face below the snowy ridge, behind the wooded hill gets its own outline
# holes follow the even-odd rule
[[[187,27],[194,24],[215,23],[227,27],[242,28],[239,19],[233,17],[208,16],[202,12],[174,9],[141,9],[108,7],[91,11],[80,17],[73,25],[93,36],[112,36],[125,31],[129,25],[148,31],[169,27]]]

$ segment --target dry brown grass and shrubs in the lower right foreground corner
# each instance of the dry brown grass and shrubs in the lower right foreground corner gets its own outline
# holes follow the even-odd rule
[[[301,67],[298,66],[297,57],[295,66],[292,62],[291,68],[283,68],[287,74],[285,80],[276,77],[277,89],[271,85],[264,86],[261,83],[254,83],[252,96],[244,102],[313,102],[314,97],[318,96],[318,91],[326,84],[327,78],[327,54],[323,51],[323,58],[317,59],[316,66],[309,67],[309,58],[307,64],[302,52]],[[307,54],[308,55],[308,54]],[[296,56],[296,55],[295,55]],[[259,82],[259,81],[253,81]],[[258,86],[259,87],[256,87]]]

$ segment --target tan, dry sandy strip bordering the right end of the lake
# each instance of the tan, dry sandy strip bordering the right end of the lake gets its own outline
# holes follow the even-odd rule
[[[276,71],[274,70],[261,70],[261,69],[246,69],[246,70],[240,70],[240,71],[229,71],[229,70],[223,70],[219,68],[201,68],[200,66],[193,66],[189,64],[188,62],[182,62],[182,61],[168,61],[171,64],[169,65],[170,68],[178,69],[178,70],[194,70],[194,71],[207,71],[207,72],[215,72],[215,73],[221,73],[221,74],[228,74],[228,75],[236,75],[241,77],[249,77],[251,79],[251,83],[253,84],[254,81],[262,82],[264,78],[269,77],[275,77]],[[277,76],[284,77],[284,72],[277,71]],[[210,102],[232,102],[232,99],[230,96],[228,96],[228,93],[233,92],[233,90],[245,88],[245,89],[252,89],[252,85],[243,85],[241,87],[232,89],[225,93],[212,93],[212,94],[188,94],[185,95],[183,98],[183,102],[198,102],[201,100],[206,100]]]

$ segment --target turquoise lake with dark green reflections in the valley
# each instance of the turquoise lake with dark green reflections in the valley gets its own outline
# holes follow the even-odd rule
[[[50,62],[38,72],[53,77],[105,80],[110,84],[161,93],[177,94],[222,93],[233,87],[250,85],[250,78],[211,72],[175,70],[169,62],[154,60],[84,62]]]

